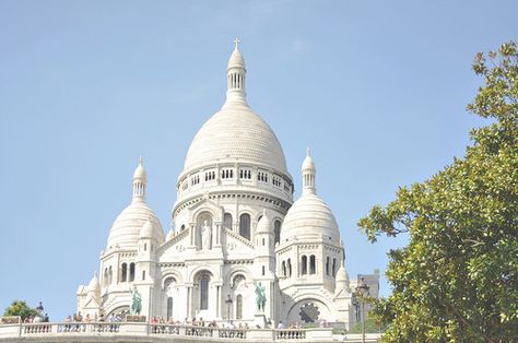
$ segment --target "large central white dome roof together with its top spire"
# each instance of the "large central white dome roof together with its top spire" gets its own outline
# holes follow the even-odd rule
[[[228,61],[226,102],[192,140],[185,172],[236,162],[260,164],[289,175],[275,133],[246,102],[245,76],[245,60],[236,47]]]

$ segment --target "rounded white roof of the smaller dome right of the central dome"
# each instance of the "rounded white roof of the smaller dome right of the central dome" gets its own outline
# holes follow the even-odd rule
[[[281,229],[281,244],[286,240],[330,237],[340,243],[340,230],[331,209],[316,194],[304,194],[287,211]]]

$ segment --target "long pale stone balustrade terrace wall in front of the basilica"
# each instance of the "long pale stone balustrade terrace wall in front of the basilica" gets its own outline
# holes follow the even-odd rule
[[[115,339],[117,338],[117,339]],[[0,324],[0,342],[361,342],[337,338],[332,329],[231,329],[142,322],[55,322]],[[369,334],[376,342],[380,334]]]

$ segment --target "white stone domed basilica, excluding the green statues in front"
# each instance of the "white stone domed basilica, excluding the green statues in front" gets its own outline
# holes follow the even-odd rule
[[[349,328],[357,321],[357,280],[349,280],[340,229],[317,194],[309,151],[302,196],[294,202],[281,144],[247,104],[245,81],[236,44],[226,100],[196,134],[178,176],[176,230],[167,236],[145,202],[141,159],[131,203],[115,220],[101,253],[98,277],[78,291],[83,316],[128,312],[136,287],[148,318],[254,324],[262,316],[272,327],[326,320]],[[379,273],[363,276],[377,296]],[[266,295],[260,309],[257,288]]]

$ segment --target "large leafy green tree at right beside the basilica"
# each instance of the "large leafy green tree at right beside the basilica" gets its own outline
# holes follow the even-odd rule
[[[463,158],[358,222],[373,243],[409,236],[388,253],[392,294],[372,312],[388,342],[518,342],[516,43],[478,54],[473,70],[484,85],[468,110],[490,125]]]

